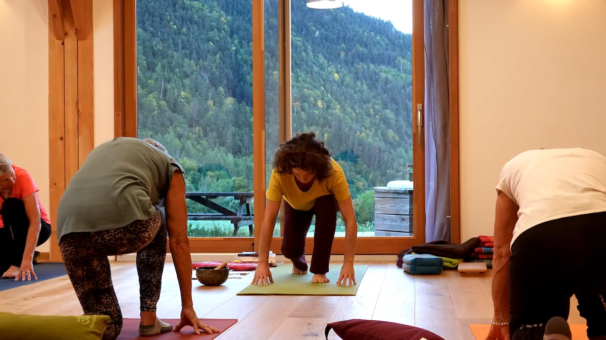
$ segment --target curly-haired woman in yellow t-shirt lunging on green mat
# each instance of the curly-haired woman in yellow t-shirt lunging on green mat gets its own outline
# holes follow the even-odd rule
[[[338,285],[356,284],[353,258],[358,223],[349,186],[341,167],[330,157],[314,132],[299,134],[276,151],[274,169],[266,192],[267,206],[261,226],[259,265],[252,284],[273,283],[268,266],[269,249],[280,204],[284,198],[282,253],[293,261],[293,273],[307,273],[305,237],[316,217],[311,268],[313,283],[327,283],[330,250],[335,238],[337,212],[345,221],[345,259]]]

